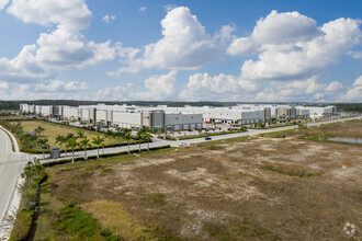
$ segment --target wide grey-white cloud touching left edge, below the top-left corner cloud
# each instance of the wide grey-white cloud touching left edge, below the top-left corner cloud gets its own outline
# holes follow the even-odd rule
[[[61,69],[80,69],[116,57],[110,42],[87,42],[78,30],[65,25],[42,33],[33,45],[25,45],[13,59],[0,59],[0,78],[7,81],[53,79]]]

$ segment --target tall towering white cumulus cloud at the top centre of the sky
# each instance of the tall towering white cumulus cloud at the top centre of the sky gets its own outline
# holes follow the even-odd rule
[[[143,56],[129,60],[128,67],[113,72],[142,69],[197,69],[223,59],[222,48],[186,7],[170,10],[161,21],[163,37],[145,47]]]

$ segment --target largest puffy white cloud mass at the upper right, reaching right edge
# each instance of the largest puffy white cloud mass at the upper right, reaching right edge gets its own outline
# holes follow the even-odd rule
[[[275,14],[279,13],[271,14],[275,18]],[[298,15],[302,20],[305,19],[302,16]],[[269,16],[261,21],[268,19]],[[361,43],[361,21],[359,20],[338,19],[324,24],[319,28],[309,19],[305,19],[304,22],[305,27],[298,27],[296,22],[291,21],[296,25],[295,30],[290,25],[291,35],[295,37],[289,37],[285,30],[283,33],[275,32],[275,36],[284,36],[282,37],[283,42],[271,36],[270,30],[275,31],[272,25],[273,21],[262,24],[265,25],[263,27],[257,28],[258,32],[265,32],[264,34],[258,33],[257,41],[254,33],[250,37],[235,39],[228,48],[228,54],[259,55],[257,60],[249,59],[244,62],[241,77],[253,80],[309,78],[325,71],[327,66],[337,64],[342,55]],[[261,25],[260,21],[258,25]],[[315,31],[312,31],[313,26]],[[296,31],[301,34],[297,34]],[[305,34],[307,37],[304,36]]]

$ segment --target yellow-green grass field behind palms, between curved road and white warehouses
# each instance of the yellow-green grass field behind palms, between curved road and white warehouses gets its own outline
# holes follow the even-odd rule
[[[87,129],[82,129],[82,128],[77,128],[77,127],[72,127],[72,126],[60,125],[60,124],[56,124],[56,123],[42,122],[42,120],[21,122],[21,125],[23,126],[23,129],[27,133],[34,131],[34,129],[36,129],[38,126],[42,126],[43,128],[45,128],[44,134],[42,134],[42,136],[48,138],[48,144],[50,147],[59,146],[58,144],[55,144],[55,141],[56,141],[55,139],[56,139],[57,135],[66,136],[69,133],[77,135],[78,130],[84,131],[84,135],[91,140],[90,145],[92,147],[95,147],[92,144],[92,138],[98,135],[103,136],[101,133],[87,130]],[[121,142],[123,142],[123,141],[124,140],[121,138]],[[131,141],[131,142],[133,142],[133,141]],[[116,145],[116,144],[118,144],[118,138],[112,137],[111,145]],[[105,146],[110,145],[109,138],[104,138],[104,145]],[[63,149],[64,149],[64,147],[63,147]]]

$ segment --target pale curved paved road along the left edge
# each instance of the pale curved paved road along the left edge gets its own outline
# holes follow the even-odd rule
[[[0,227],[25,162],[26,154],[19,152],[18,145],[15,152],[12,151],[11,140],[0,127]]]

